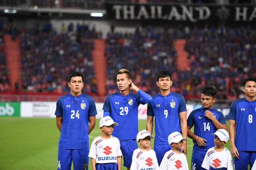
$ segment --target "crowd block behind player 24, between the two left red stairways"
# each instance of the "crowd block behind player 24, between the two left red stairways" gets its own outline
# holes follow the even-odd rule
[[[85,25],[62,26],[62,32],[47,24],[41,31],[20,33],[22,87],[34,92],[67,93],[67,75],[84,73],[84,93],[97,94],[92,60],[95,30]]]

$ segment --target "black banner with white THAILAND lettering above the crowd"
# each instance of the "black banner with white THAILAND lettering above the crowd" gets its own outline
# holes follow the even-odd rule
[[[175,22],[222,22],[252,24],[256,6],[198,6],[106,3],[107,16],[114,20],[162,20]],[[254,25],[254,24],[253,24]]]

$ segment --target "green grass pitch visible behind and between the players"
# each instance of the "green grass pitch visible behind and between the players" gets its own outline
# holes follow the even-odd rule
[[[145,126],[146,120],[139,120],[139,130]],[[100,134],[97,119],[96,127],[89,135],[90,144]],[[59,136],[55,119],[0,117],[0,170],[56,170]],[[192,146],[192,140],[188,139],[189,166]],[[230,142],[225,147],[230,149]],[[122,167],[122,170],[126,168]]]

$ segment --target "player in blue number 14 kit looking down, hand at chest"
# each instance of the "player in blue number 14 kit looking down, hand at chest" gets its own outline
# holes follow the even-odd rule
[[[187,119],[188,136],[193,139],[193,151],[191,159],[192,170],[204,170],[201,167],[207,150],[214,147],[214,136],[218,129],[227,130],[227,124],[223,113],[213,108],[216,89],[206,86],[201,90],[202,107],[192,111]],[[194,126],[194,133],[190,130]]]

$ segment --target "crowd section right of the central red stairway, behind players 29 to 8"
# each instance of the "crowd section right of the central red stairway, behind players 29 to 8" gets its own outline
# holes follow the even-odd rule
[[[177,51],[173,41],[185,37],[189,55],[189,68],[180,71],[176,66]],[[157,71],[167,69],[175,83],[172,91],[183,96],[200,96],[201,88],[214,85],[218,98],[237,99],[243,95],[239,82],[256,76],[253,60],[256,36],[250,28],[231,29],[205,26],[203,30],[185,27],[158,31],[151,27],[135,34],[108,34],[106,57],[108,60],[108,94],[116,91],[115,73],[120,68],[131,70],[138,87],[148,94],[157,91]]]

